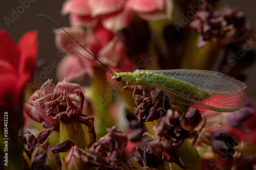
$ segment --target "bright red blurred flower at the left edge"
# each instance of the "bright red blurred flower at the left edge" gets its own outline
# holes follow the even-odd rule
[[[9,102],[16,106],[25,83],[28,82],[34,69],[37,39],[35,32],[27,32],[19,41],[17,47],[11,37],[0,30],[0,60],[1,60],[1,105]],[[9,100],[6,100],[8,98]],[[6,106],[8,107],[8,106]]]

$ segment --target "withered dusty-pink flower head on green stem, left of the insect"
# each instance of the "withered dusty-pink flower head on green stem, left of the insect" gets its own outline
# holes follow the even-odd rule
[[[80,123],[89,127],[89,132],[96,138],[94,117],[82,114],[84,89],[74,83],[62,81],[56,86],[48,80],[30,97],[24,111],[44,128],[54,127],[59,130],[59,120],[65,124]]]

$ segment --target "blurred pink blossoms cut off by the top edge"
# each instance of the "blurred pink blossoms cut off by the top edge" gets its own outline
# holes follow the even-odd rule
[[[146,20],[170,19],[173,3],[168,0],[67,0],[62,14],[70,14],[72,26],[95,27],[97,22],[112,32],[127,27],[136,12]]]

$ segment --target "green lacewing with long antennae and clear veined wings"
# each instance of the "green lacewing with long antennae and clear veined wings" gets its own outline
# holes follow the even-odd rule
[[[42,14],[40,14],[42,15]],[[46,16],[46,15],[42,15]],[[50,18],[49,16],[46,16]],[[52,19],[52,18],[50,18]],[[53,20],[53,19],[52,19]],[[65,31],[55,20],[53,20],[63,31]],[[65,31],[66,32],[66,31]],[[68,32],[66,32],[73,38]],[[73,40],[75,40],[73,38]],[[76,40],[75,40],[76,41]],[[77,41],[76,41],[77,42]],[[78,42],[77,42],[78,43]],[[79,43],[78,43],[79,44]],[[99,61],[86,48],[79,44],[91,56]],[[70,47],[74,52],[79,52]],[[81,55],[83,56],[83,55]],[[86,58],[85,56],[83,56]],[[89,60],[88,58],[86,58]],[[89,60],[98,65],[97,63]],[[140,70],[134,72],[113,72],[109,67],[100,66],[113,76],[110,80],[121,81],[143,86],[143,101],[145,88],[157,88],[164,91],[169,100],[219,112],[232,112],[246,105],[248,96],[244,89],[246,85],[234,78],[220,72],[207,70],[174,69],[174,70]],[[135,95],[136,86],[133,91]]]

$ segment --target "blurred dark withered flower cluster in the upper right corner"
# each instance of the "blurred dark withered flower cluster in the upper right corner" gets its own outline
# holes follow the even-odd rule
[[[209,4],[196,13],[190,27],[201,35],[199,47],[212,40],[222,44],[242,42],[253,35],[244,13],[231,9],[214,11]]]

